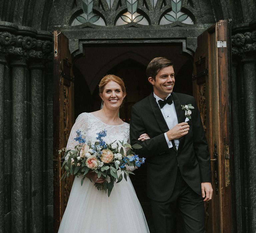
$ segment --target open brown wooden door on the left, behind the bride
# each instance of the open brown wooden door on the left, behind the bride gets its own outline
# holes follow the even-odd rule
[[[73,177],[60,180],[60,148],[66,147],[69,133],[74,124],[74,77],[68,39],[59,31],[54,31],[54,231],[58,232],[61,218],[67,205]]]

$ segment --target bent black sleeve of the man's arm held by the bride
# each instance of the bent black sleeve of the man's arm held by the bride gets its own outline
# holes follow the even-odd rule
[[[145,141],[138,140],[139,136],[143,133],[147,133],[147,130],[143,124],[143,121],[133,106],[131,111],[131,122],[130,122],[130,137],[131,144],[140,144],[141,149],[136,149],[135,152],[140,156],[149,158],[162,154],[165,151],[168,151],[169,147],[165,139],[164,133],[161,133],[155,137],[147,139]],[[150,136],[150,135],[149,135]]]

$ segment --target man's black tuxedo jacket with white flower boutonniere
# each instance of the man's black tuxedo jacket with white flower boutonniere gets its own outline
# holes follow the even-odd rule
[[[132,107],[130,122],[131,143],[142,145],[136,153],[146,158],[147,195],[156,201],[170,198],[179,166],[186,183],[201,195],[201,182],[211,182],[211,165],[208,144],[195,99],[192,96],[172,93],[178,122],[185,121],[181,105],[192,104],[189,132],[179,138],[178,150],[169,148],[164,133],[169,130],[159,106],[150,94]],[[150,139],[138,141],[142,133]]]

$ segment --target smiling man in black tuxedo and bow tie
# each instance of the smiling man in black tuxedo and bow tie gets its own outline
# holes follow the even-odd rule
[[[204,201],[212,198],[211,166],[195,99],[173,92],[170,60],[154,58],[146,74],[154,92],[132,107],[130,136],[132,144],[142,145],[136,152],[147,158],[147,195],[155,230],[175,232],[179,209],[185,231],[203,233]],[[194,107],[190,116],[181,107],[189,104]]]

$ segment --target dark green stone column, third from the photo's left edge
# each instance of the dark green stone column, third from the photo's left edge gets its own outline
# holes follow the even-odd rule
[[[32,232],[43,232],[43,69],[33,62],[31,70],[31,208]]]

